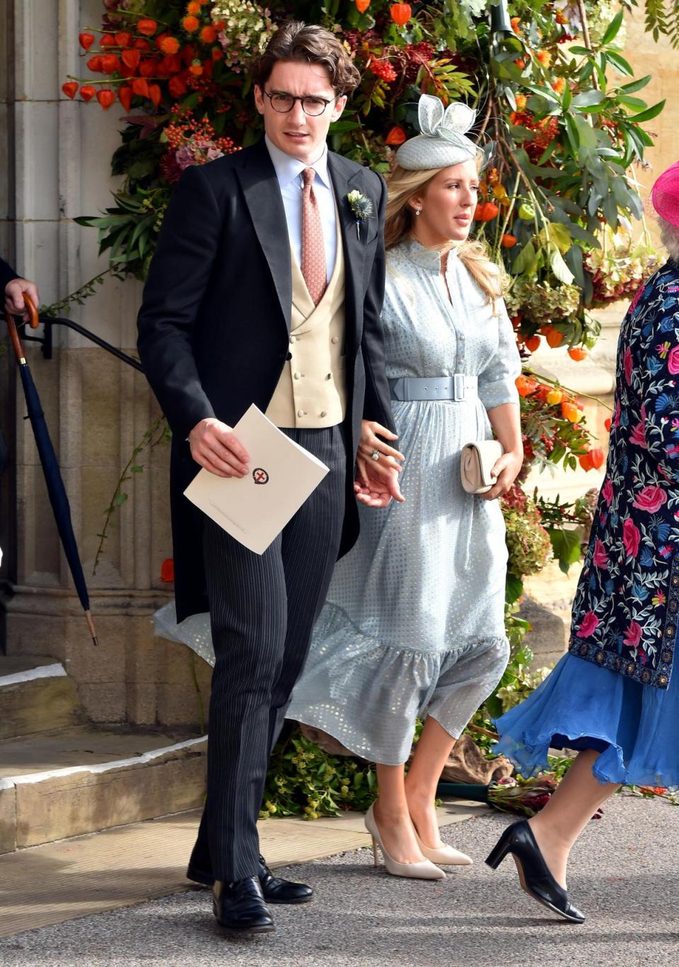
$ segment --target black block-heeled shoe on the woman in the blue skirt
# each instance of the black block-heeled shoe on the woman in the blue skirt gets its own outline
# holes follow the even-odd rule
[[[564,888],[559,886],[549,872],[533,831],[525,819],[507,827],[487,858],[488,866],[497,869],[508,853],[517,861],[521,887],[529,896],[564,920],[584,923],[584,915],[570,903]]]

